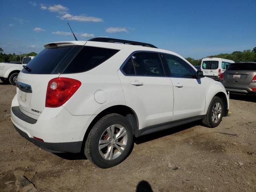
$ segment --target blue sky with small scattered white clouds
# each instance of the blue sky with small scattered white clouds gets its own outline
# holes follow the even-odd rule
[[[40,52],[48,42],[110,37],[202,58],[256,46],[256,0],[0,1],[0,47]]]

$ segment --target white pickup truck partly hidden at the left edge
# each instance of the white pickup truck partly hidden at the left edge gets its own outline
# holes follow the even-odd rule
[[[22,62],[0,63],[0,79],[5,84],[16,85],[19,72],[23,69],[23,65],[28,64],[34,56],[24,57]]]

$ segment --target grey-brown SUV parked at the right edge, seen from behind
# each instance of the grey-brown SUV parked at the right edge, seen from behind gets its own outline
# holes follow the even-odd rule
[[[230,64],[220,74],[220,82],[231,93],[256,95],[256,62]]]

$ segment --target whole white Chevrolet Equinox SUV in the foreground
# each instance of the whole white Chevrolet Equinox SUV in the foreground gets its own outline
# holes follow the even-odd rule
[[[228,114],[224,86],[151,44],[94,38],[45,45],[19,76],[16,130],[51,152],[84,152],[101,168],[122,162],[133,138]]]

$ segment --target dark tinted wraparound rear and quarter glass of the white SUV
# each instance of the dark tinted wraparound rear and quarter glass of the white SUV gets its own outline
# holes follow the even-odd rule
[[[68,74],[85,72],[108,60],[119,50],[90,47],[66,46],[46,48],[22,69],[28,74]]]

